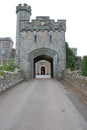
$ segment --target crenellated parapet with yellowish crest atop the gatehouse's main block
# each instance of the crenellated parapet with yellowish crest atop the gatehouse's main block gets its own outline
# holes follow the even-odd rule
[[[28,30],[63,30],[66,31],[66,20],[57,20],[55,22],[53,19],[50,19],[48,16],[38,16],[36,19],[31,22],[25,24],[23,27],[21,26],[20,31],[28,31]]]

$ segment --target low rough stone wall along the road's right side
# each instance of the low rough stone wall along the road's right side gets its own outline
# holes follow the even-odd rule
[[[87,95],[87,77],[82,76],[80,71],[64,70],[63,80]]]

